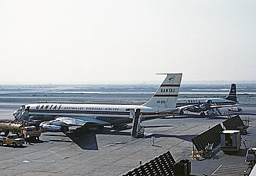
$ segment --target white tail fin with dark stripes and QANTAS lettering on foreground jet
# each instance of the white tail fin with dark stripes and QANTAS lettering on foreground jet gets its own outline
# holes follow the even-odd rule
[[[143,106],[152,108],[176,108],[177,95],[181,86],[182,74],[166,74],[166,78],[155,94]]]

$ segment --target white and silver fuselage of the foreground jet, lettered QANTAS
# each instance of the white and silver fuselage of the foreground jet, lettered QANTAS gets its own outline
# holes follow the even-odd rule
[[[174,115],[175,111],[168,109],[154,109],[148,106],[139,105],[114,105],[114,104],[66,104],[66,103],[40,103],[31,104],[25,107],[29,117],[48,117],[54,119],[57,117],[91,117],[98,120],[104,120],[107,124],[126,124],[133,119],[130,117],[130,110],[141,110],[141,118],[150,120]],[[162,112],[162,113],[161,113]],[[164,112],[164,113],[163,113]]]

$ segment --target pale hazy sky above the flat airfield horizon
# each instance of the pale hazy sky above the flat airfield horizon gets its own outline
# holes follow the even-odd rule
[[[0,84],[254,81],[255,0],[0,0]]]

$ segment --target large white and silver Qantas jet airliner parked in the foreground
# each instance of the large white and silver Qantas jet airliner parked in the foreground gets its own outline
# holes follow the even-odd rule
[[[16,120],[28,120],[30,117],[42,122],[46,131],[64,131],[72,126],[107,126],[133,122],[133,115],[140,110],[142,120],[165,117],[180,113],[176,108],[177,96],[182,74],[166,74],[166,78],[142,105],[115,104],[74,104],[74,103],[37,103],[21,106],[13,113]]]

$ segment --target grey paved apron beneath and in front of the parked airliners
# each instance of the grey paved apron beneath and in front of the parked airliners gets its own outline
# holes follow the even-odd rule
[[[250,128],[242,140],[247,140],[247,146],[256,146],[256,103],[244,103],[241,107],[245,114],[240,117],[250,118]],[[146,163],[169,150],[174,160],[192,161],[193,175],[241,172],[247,167],[244,145],[236,155],[225,155],[220,151],[210,160],[192,160],[191,157],[191,139],[227,118],[168,117],[145,121],[145,132],[155,135],[155,146],[151,145],[150,138],[132,138],[129,130],[80,135],[76,137],[80,146],[63,133],[47,132],[42,134],[40,142],[32,142],[31,145],[25,144],[20,148],[2,146],[0,171],[1,175],[8,176],[122,175],[138,167],[140,161]],[[96,139],[95,143],[93,139]],[[82,149],[81,146],[86,147]]]

